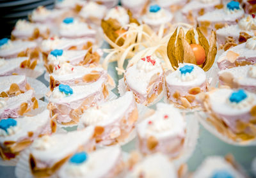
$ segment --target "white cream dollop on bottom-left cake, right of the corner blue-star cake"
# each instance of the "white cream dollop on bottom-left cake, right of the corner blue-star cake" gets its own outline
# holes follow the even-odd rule
[[[44,135],[43,137],[36,139],[33,142],[32,147],[37,150],[47,150],[51,149],[53,144],[54,142],[51,137],[49,135]]]

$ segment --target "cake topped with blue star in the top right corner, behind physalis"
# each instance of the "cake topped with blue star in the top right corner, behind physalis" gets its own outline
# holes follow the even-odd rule
[[[230,1],[220,10],[209,11],[197,18],[200,29],[205,34],[211,34],[211,30],[237,24],[237,20],[244,17],[244,10],[237,1]]]

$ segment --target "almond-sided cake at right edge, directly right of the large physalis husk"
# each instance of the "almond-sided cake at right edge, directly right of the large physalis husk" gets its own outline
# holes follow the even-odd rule
[[[246,43],[229,48],[218,58],[220,70],[237,66],[253,65],[256,63],[256,36],[249,38]]]

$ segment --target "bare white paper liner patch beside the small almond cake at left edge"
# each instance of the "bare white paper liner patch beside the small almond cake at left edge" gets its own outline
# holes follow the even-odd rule
[[[40,99],[43,98],[47,92],[47,87],[41,81],[35,78],[27,77],[28,84],[35,90],[35,97]]]

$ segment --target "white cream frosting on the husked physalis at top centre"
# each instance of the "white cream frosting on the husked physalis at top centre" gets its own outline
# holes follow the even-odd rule
[[[108,19],[116,19],[121,24],[121,26],[129,24],[129,15],[127,14],[125,8],[122,6],[111,8],[105,17],[105,20]]]

